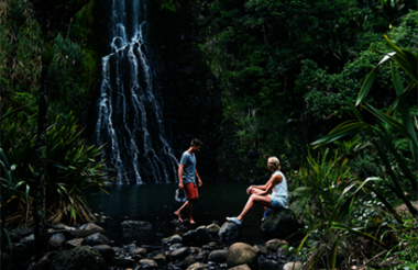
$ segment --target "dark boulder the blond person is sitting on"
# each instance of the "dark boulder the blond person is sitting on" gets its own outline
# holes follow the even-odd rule
[[[286,237],[301,227],[294,212],[288,209],[274,210],[261,225],[261,230],[276,237]]]

